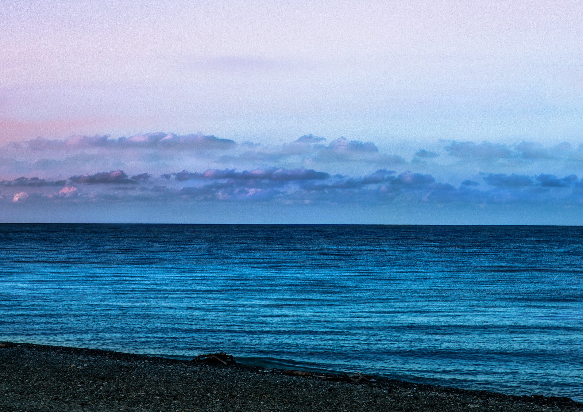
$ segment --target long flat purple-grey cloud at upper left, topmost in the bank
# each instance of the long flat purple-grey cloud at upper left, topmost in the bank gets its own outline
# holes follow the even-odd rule
[[[12,147],[26,148],[36,151],[47,150],[80,150],[91,148],[110,149],[176,149],[176,150],[227,150],[236,147],[237,143],[230,139],[219,139],[215,136],[205,136],[202,133],[192,135],[176,135],[175,133],[143,133],[142,135],[110,139],[109,135],[78,136],[65,140],[49,140],[38,137],[23,143],[14,143]]]

